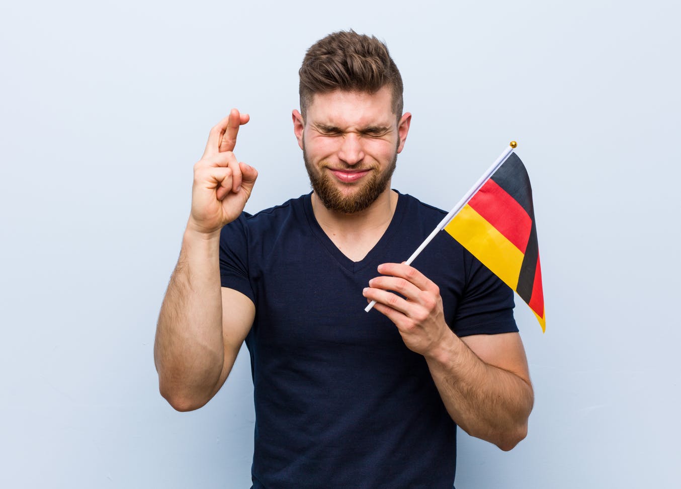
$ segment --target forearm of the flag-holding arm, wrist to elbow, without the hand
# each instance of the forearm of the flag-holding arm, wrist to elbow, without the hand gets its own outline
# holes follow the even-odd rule
[[[454,333],[425,357],[449,415],[469,435],[504,450],[526,436],[534,402],[528,379],[483,362]]]

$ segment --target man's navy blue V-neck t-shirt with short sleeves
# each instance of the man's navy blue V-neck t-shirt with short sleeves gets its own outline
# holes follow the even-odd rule
[[[452,489],[456,424],[423,356],[362,296],[379,264],[405,261],[444,215],[400,194],[360,262],[323,232],[310,194],[223,228],[222,285],[255,304],[253,488]],[[513,291],[449,234],[412,266],[440,287],[458,336],[518,331]]]

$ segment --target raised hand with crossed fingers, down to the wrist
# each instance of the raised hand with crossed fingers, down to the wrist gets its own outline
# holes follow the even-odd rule
[[[225,119],[210,129],[206,151],[194,165],[188,229],[204,234],[219,232],[244,210],[257,171],[238,161],[232,151],[239,127],[249,119],[248,114],[232,109]]]

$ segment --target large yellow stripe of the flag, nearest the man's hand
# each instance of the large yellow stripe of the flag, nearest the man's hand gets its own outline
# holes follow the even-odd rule
[[[524,257],[522,251],[471,206],[466,204],[454,219],[449,221],[445,231],[511,289],[516,290]]]

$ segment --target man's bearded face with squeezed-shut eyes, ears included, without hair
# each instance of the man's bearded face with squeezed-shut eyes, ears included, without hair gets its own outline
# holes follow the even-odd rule
[[[389,191],[411,117],[398,121],[391,97],[389,87],[374,94],[334,91],[313,97],[305,121],[296,124],[294,112],[305,168],[326,208],[359,212]]]

